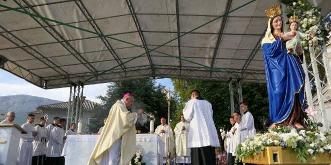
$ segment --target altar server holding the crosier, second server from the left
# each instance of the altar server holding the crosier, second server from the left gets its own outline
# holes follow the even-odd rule
[[[35,126],[35,131],[38,135],[35,137],[33,144],[33,156],[32,165],[34,164],[46,164],[46,119],[44,117],[40,118],[40,124]]]

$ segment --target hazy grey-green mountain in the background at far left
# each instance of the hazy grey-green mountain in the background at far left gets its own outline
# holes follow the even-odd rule
[[[0,120],[6,118],[8,111],[14,111],[14,123],[22,125],[27,121],[27,113],[37,110],[37,106],[58,102],[63,101],[24,94],[0,96],[0,113],[5,113],[0,115]]]

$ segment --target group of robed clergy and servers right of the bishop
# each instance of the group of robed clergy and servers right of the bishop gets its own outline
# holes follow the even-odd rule
[[[255,136],[254,118],[248,111],[248,103],[240,103],[241,113],[235,111],[230,117],[232,128],[227,136],[227,150],[217,156],[215,148],[220,146],[216,127],[213,121],[213,109],[210,102],[204,100],[199,90],[191,92],[191,100],[187,102],[174,132],[165,118],[161,118],[161,125],[155,133],[165,141],[163,164],[167,162],[167,153],[176,144],[176,152],[172,164],[241,164],[235,163],[237,146],[246,138]],[[168,145],[168,146],[167,146]],[[169,148],[170,147],[170,148]]]

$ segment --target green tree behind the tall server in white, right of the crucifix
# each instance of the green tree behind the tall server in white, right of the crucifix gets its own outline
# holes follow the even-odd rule
[[[219,134],[220,144],[224,143],[220,136],[220,128],[230,130],[229,122],[231,114],[229,83],[207,80],[172,79],[174,88],[179,95],[179,110],[182,113],[186,102],[190,100],[193,89],[198,89],[201,96],[208,100],[213,107],[213,119]],[[254,116],[254,124],[257,130],[263,129],[263,120],[269,117],[269,103],[267,85],[257,83],[242,84],[243,99],[249,103],[249,109]],[[239,109],[237,109],[239,110]],[[174,119],[175,120],[175,119]],[[221,148],[221,150],[224,149]]]

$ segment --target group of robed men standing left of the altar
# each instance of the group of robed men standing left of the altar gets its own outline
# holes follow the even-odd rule
[[[9,111],[7,118],[0,123],[14,123],[15,117],[15,112]],[[28,114],[27,122],[21,125],[27,133],[21,134],[16,164],[64,164],[64,156],[61,155],[65,139],[69,134],[76,134],[76,123],[71,123],[70,129],[64,132],[63,127],[67,123],[64,118],[54,117],[53,123],[47,126],[44,117],[36,126],[32,125],[34,121],[35,115]]]

